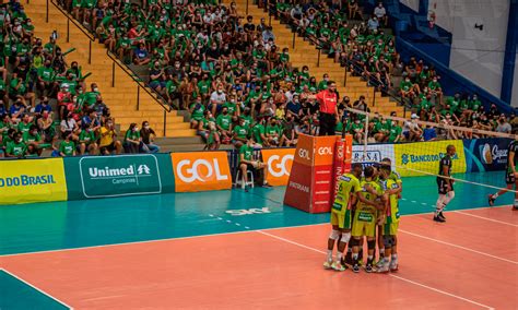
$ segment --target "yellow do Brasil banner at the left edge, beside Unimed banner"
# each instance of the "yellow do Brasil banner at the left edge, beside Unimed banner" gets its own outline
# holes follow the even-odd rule
[[[63,160],[0,160],[0,204],[67,200]]]

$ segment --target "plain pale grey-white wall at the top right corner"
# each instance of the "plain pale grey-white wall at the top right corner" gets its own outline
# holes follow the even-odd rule
[[[509,0],[429,0],[428,10],[452,33],[450,68],[499,97]]]

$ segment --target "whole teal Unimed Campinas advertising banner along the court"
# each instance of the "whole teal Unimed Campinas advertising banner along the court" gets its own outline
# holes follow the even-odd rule
[[[69,196],[113,198],[173,192],[166,154],[66,157]]]

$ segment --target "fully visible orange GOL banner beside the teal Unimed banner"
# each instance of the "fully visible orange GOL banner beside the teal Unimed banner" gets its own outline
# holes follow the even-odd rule
[[[226,152],[172,153],[177,192],[232,189]]]

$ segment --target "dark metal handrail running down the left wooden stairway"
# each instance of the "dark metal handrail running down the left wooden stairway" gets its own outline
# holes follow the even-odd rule
[[[46,7],[46,22],[49,22],[49,2],[52,3],[56,9],[58,9],[67,17],[67,43],[70,43],[70,23],[74,24],[87,38],[89,38],[89,64],[92,64],[92,43],[95,41],[95,35],[92,34],[89,29],[79,24],[78,21],[59,3],[54,2],[54,0],[47,0]],[[28,3],[28,0],[27,0]],[[173,110],[173,107],[167,104],[167,100],[162,97],[158,93],[151,91],[145,83],[140,79],[140,76],[127,67],[123,63],[120,63],[120,60],[114,56],[108,49],[106,49],[106,55],[111,59],[111,87],[115,87],[115,65],[117,64],[125,73],[127,73],[136,83],[137,83],[137,110],[140,109],[140,90],[143,88],[163,109],[164,109],[164,136],[167,132],[167,114]]]

